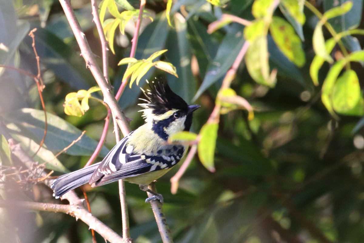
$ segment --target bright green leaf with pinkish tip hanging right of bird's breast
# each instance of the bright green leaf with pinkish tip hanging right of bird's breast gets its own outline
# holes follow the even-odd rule
[[[203,166],[211,172],[215,171],[214,156],[218,123],[206,123],[201,128],[201,139],[198,143],[198,157]]]

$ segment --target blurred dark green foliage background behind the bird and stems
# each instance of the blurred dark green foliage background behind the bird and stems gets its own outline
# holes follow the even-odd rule
[[[129,0],[139,9],[140,1]],[[179,78],[151,68],[141,79],[166,77],[171,88],[187,103],[202,106],[194,115],[192,131],[198,133],[215,105],[215,97],[238,52],[244,44],[244,26],[231,23],[212,34],[207,26],[229,13],[254,20],[253,0],[222,1],[223,6],[206,0],[177,0],[167,23],[166,3],[147,0],[146,10],[153,18],[144,18],[136,58],[148,58],[155,51],[168,49],[161,60],[177,68]],[[309,1],[321,13],[345,1]],[[363,0],[353,0],[345,15],[330,20],[337,31],[363,28]],[[100,42],[92,22],[88,0],[72,1],[78,20],[92,50],[101,56]],[[246,110],[222,115],[215,150],[215,173],[207,171],[195,156],[183,175],[177,194],[171,195],[170,177],[179,165],[158,180],[158,192],[165,198],[165,210],[175,242],[265,243],[265,242],[349,242],[364,239],[364,118],[329,113],[321,102],[321,88],[331,64],[324,63],[315,86],[309,74],[315,56],[313,33],[319,19],[302,8],[304,24],[277,8],[274,16],[287,19],[302,40],[305,62],[293,64],[268,34],[269,66],[277,70],[276,85],[265,86],[249,75],[242,62],[232,89],[254,107],[254,119]],[[121,10],[121,8],[120,8]],[[106,18],[111,17],[107,13]],[[290,19],[291,18],[291,19]],[[107,110],[90,102],[82,117],[64,114],[64,98],[80,89],[95,86],[66,17],[56,0],[0,0],[0,62],[37,74],[29,30],[35,32],[45,84],[43,97],[48,112],[48,133],[44,148],[34,160],[49,161],[53,154],[69,145],[82,130],[86,135],[66,153],[47,164],[54,175],[81,168],[92,154],[102,133]],[[323,28],[325,39],[332,36]],[[125,35],[115,34],[114,51],[109,54],[110,80],[120,86],[126,65],[120,59],[130,54],[134,22],[125,26]],[[110,40],[109,40],[110,41]],[[351,53],[364,45],[362,35],[343,39]],[[340,60],[342,50],[335,46],[331,58]],[[101,64],[101,58],[98,58]],[[297,64],[297,63],[296,63]],[[364,85],[362,63],[352,63]],[[33,154],[44,129],[37,86],[32,78],[15,70],[0,70],[0,119],[24,150]],[[143,124],[137,106],[141,90],[132,85],[124,91],[119,104],[132,129]],[[350,89],[349,89],[350,92]],[[100,94],[96,97],[102,98]],[[362,95],[360,96],[362,99]],[[357,114],[356,114],[357,115]],[[4,144],[4,143],[3,143]],[[115,145],[112,126],[100,160]],[[19,161],[2,158],[0,195],[2,199],[60,203],[49,188],[31,183],[31,175],[7,176],[11,167],[21,170]],[[7,164],[8,163],[8,164]],[[117,183],[86,188],[92,213],[121,233]],[[76,192],[82,195],[79,189]],[[134,242],[161,242],[153,213],[144,203],[145,192],[127,184],[131,237]],[[64,202],[62,202],[64,203]],[[66,243],[91,242],[91,233],[83,222],[61,213],[1,209],[1,242]],[[103,239],[96,235],[98,242]]]

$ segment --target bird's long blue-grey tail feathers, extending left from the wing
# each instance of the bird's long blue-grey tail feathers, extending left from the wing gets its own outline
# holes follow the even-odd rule
[[[100,163],[101,162],[87,166],[86,168],[62,175],[55,179],[51,185],[51,188],[54,191],[53,196],[59,198],[64,193],[88,183],[88,180],[90,180],[90,177]]]

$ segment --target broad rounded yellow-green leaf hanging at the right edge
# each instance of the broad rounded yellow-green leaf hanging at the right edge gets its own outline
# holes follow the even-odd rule
[[[340,114],[362,115],[364,110],[353,113],[355,106],[363,99],[360,93],[359,78],[353,70],[347,70],[337,79],[333,88],[332,106]],[[357,111],[355,111],[357,112]]]

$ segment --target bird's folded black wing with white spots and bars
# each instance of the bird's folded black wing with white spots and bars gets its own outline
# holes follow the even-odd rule
[[[124,137],[110,150],[90,178],[89,183],[98,187],[119,179],[142,175],[147,172],[169,169],[181,160],[185,148],[173,146],[171,149],[157,151],[155,156],[135,154],[132,145],[127,145]]]

